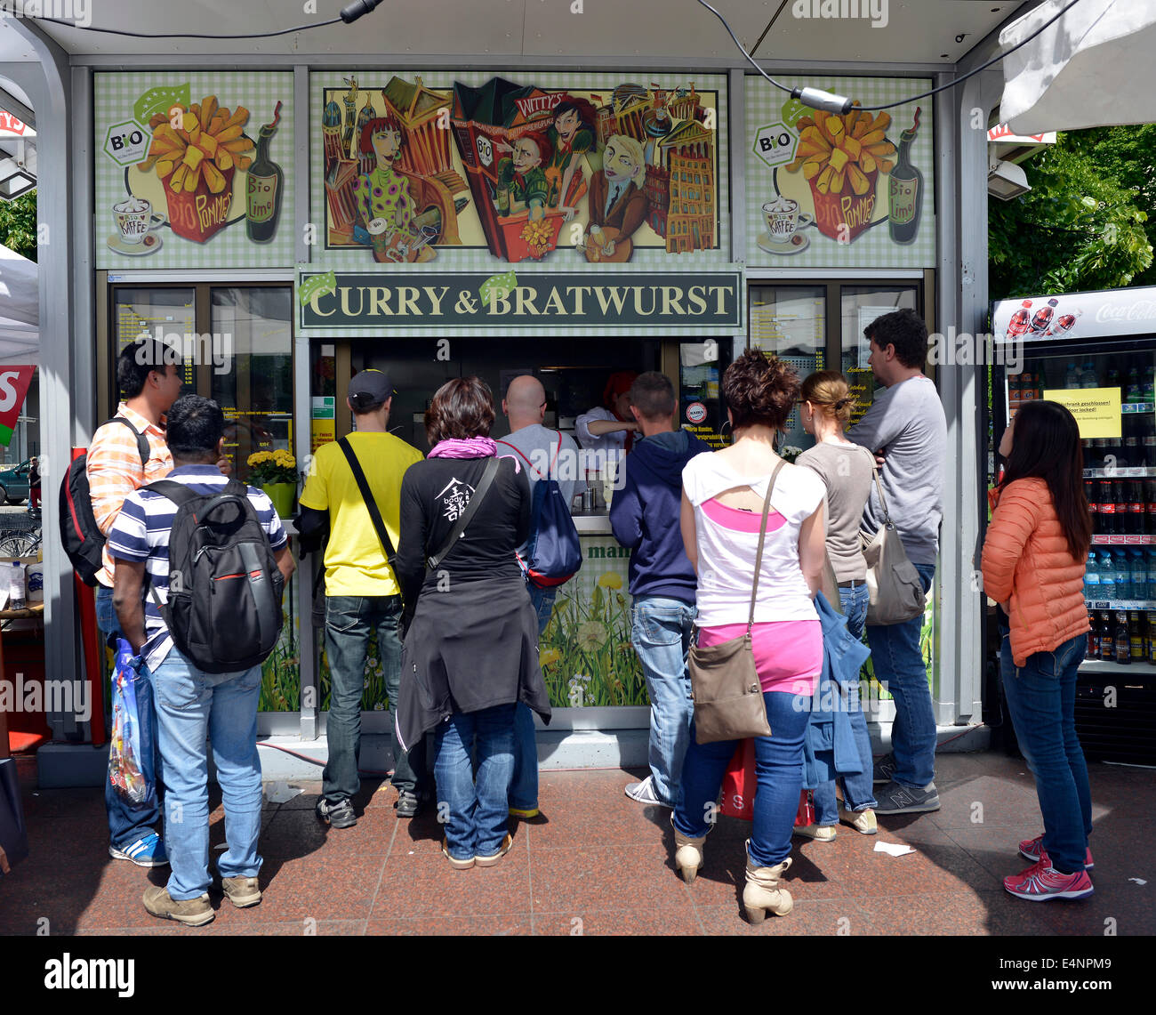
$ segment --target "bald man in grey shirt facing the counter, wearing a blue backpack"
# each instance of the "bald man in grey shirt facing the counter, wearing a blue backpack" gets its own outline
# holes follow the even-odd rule
[[[506,397],[502,399],[502,412],[510,420],[510,435],[498,440],[498,454],[513,454],[523,465],[529,480],[531,495],[539,476],[547,474],[557,480],[566,504],[573,504],[576,492],[586,489],[578,479],[578,445],[572,437],[547,430],[546,388],[529,373],[523,373],[510,381]],[[558,437],[562,438],[561,445]],[[525,554],[526,547],[518,548]],[[538,588],[527,583],[531,602],[538,610],[538,631],[541,634],[550,622],[557,588]],[[534,717],[521,702],[514,710],[514,768],[510,783],[510,813],[517,817],[538,817],[538,742],[534,734]]]

